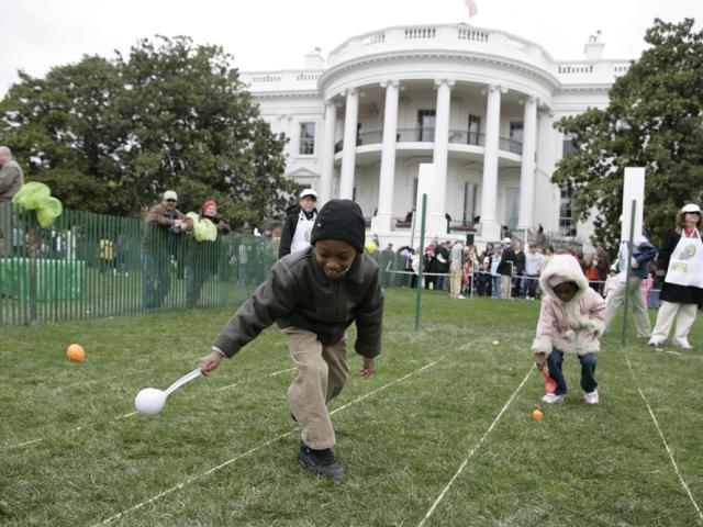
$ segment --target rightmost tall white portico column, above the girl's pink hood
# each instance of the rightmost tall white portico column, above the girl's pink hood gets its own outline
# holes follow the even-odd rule
[[[535,222],[535,147],[537,144],[537,100],[525,99],[523,159],[520,169],[520,214],[517,229],[532,229]]]

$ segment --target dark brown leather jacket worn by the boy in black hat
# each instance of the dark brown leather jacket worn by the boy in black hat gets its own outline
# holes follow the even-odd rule
[[[381,351],[382,315],[379,268],[371,257],[358,255],[346,277],[333,281],[315,261],[314,247],[309,247],[274,265],[268,279],[239,306],[213,346],[232,357],[274,322],[308,329],[322,344],[334,344],[356,321],[356,351],[376,357]]]

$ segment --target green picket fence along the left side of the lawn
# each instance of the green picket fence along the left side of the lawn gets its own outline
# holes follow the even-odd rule
[[[0,201],[0,326],[232,305],[276,261],[265,238],[198,243],[155,224],[65,210],[49,228]]]

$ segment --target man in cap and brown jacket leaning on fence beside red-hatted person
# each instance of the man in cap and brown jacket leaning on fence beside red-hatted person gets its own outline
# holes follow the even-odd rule
[[[193,226],[176,206],[178,194],[164,192],[161,202],[146,214],[142,267],[144,310],[159,309],[171,288],[171,258],[177,258],[180,240]]]

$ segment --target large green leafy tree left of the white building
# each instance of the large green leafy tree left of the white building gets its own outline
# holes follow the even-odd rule
[[[279,214],[297,186],[271,133],[216,46],[140,41],[113,60],[83,57],[45,79],[21,74],[0,102],[0,143],[74,209],[137,214],[166,189],[207,199],[233,225]]]

